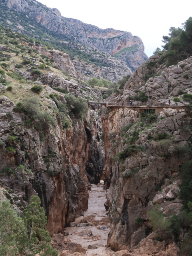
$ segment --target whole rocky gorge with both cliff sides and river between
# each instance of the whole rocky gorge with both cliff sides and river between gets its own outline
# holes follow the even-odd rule
[[[38,196],[59,256],[186,255],[192,57],[150,57],[107,104],[68,54],[1,32],[0,201],[21,216]]]

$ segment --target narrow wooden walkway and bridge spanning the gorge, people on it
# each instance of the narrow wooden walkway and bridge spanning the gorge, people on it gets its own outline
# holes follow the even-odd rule
[[[172,109],[176,109],[176,110],[180,110],[180,109],[187,109],[187,106],[119,106],[119,105],[114,105],[113,102],[89,102],[88,101],[88,105],[92,105],[92,104],[98,104],[98,105],[103,105],[107,108],[129,108],[129,109],[133,109],[137,112],[150,112],[150,110],[155,110],[155,114],[159,113],[160,111],[163,110],[163,108],[172,108]]]

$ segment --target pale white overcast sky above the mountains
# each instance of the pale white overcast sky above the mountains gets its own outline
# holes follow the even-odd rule
[[[114,28],[139,36],[145,53],[151,56],[162,45],[169,28],[180,27],[192,16],[192,1],[182,0],[39,0],[60,10],[62,16],[81,20],[99,28]]]

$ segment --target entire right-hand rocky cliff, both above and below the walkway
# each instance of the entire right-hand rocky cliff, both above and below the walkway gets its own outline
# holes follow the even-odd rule
[[[182,164],[190,160],[190,153],[184,148],[191,147],[191,112],[182,108],[188,102],[180,94],[192,94],[192,60],[188,58],[166,67],[155,65],[157,58],[154,56],[140,66],[126,83],[124,92],[112,95],[109,102],[129,106],[130,98],[138,96],[139,91],[148,98],[144,104],[149,109],[168,106],[168,97],[171,100],[180,97],[179,102],[171,101],[173,108],[162,108],[158,114],[151,110],[141,114],[126,107],[102,111],[106,151],[103,174],[108,188],[105,205],[110,207],[111,221],[108,244],[114,250],[130,249],[136,255],[178,255],[179,249],[173,241],[164,242],[164,247],[158,248],[159,254],[155,247],[150,247],[154,233],[147,236],[152,231],[148,211],[158,203],[166,216],[180,212],[178,174]],[[146,80],[149,65],[157,74]],[[134,104],[143,103],[134,100]],[[142,220],[140,225],[135,222],[137,217]]]

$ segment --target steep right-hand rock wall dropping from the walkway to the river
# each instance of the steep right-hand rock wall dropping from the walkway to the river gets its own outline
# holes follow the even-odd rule
[[[103,174],[110,184],[106,202],[106,207],[110,207],[111,221],[108,244],[114,250],[133,249],[146,238],[146,234],[151,230],[147,211],[151,210],[150,201],[159,193],[157,185],[162,184],[166,178],[176,177],[180,166],[189,160],[188,154],[184,152],[178,158],[181,153],[174,151],[174,144],[165,149],[153,139],[157,134],[165,132],[172,136],[177,147],[190,144],[192,131],[183,131],[190,116],[184,109],[164,109],[158,114],[157,123],[148,129],[139,126],[139,119],[140,114],[128,108],[111,109],[110,112],[104,108],[102,111],[106,141],[106,166]],[[133,126],[124,137],[122,128],[130,124]],[[131,150],[125,158],[116,159],[118,153],[125,152],[128,146],[126,138],[131,137],[134,130],[139,131],[134,144],[142,146],[143,149],[138,152]],[[165,150],[170,153],[169,156],[166,156]],[[179,203],[180,201],[178,209],[182,206]],[[161,207],[165,209],[168,205],[169,201],[165,200]],[[136,226],[136,217],[141,217],[144,221],[142,227]]]

